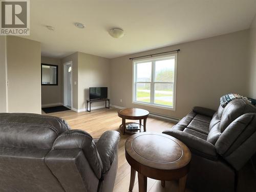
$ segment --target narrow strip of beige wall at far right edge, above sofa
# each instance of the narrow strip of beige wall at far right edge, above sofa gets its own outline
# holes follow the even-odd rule
[[[249,91],[250,97],[256,98],[256,15],[254,16],[253,22],[250,27],[250,81],[249,81]]]

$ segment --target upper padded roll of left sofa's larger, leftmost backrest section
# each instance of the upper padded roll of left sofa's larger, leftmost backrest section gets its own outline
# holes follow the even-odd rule
[[[70,130],[62,119],[26,113],[0,113],[0,147],[51,149]]]

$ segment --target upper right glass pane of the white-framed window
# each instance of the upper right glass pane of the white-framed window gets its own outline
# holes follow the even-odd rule
[[[175,58],[156,61],[155,81],[174,82]]]

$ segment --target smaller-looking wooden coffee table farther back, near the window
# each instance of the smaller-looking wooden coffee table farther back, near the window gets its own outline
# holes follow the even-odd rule
[[[124,135],[125,132],[129,132],[126,130],[126,124],[130,124],[132,122],[125,123],[125,119],[131,119],[131,120],[139,120],[139,129],[141,130],[141,120],[143,119],[143,129],[144,132],[146,131],[146,119],[148,117],[149,112],[143,109],[138,109],[138,108],[127,108],[127,109],[122,109],[119,110],[118,116],[122,118],[122,124],[119,126],[119,129]],[[137,123],[138,124],[138,123]],[[134,133],[133,131],[130,131],[129,133]]]

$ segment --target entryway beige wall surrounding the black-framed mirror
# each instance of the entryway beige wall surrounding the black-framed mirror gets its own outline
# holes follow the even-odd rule
[[[41,86],[42,106],[63,103],[63,68],[61,64],[61,59],[42,56],[41,63],[58,66],[58,86]]]

